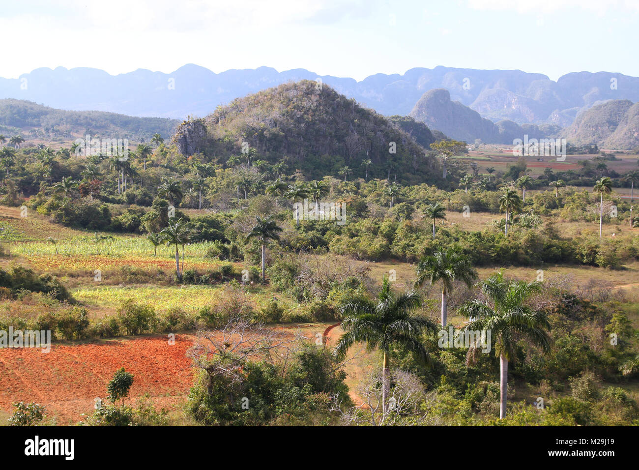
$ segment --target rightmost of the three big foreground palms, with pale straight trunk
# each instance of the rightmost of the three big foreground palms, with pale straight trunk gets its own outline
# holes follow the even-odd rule
[[[504,281],[502,272],[493,274],[481,286],[486,299],[468,301],[459,308],[459,313],[470,318],[468,331],[490,331],[491,339],[497,341],[495,354],[500,359],[500,411],[499,418],[506,416],[508,391],[508,361],[514,358],[516,343],[525,338],[550,350],[546,329],[550,324],[543,311],[525,305],[527,299],[541,290],[541,284],[526,281]]]

